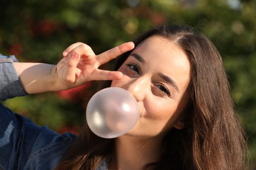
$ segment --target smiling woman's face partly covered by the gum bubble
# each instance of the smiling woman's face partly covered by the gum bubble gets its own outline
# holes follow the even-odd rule
[[[160,36],[149,37],[118,69],[112,87],[129,91],[139,104],[139,122],[126,135],[155,137],[183,126],[181,112],[188,102],[190,63],[184,52]]]

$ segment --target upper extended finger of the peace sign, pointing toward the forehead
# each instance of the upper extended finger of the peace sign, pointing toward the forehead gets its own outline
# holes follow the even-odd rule
[[[107,50],[106,52],[102,52],[102,54],[96,56],[96,59],[98,63],[102,65],[111,59],[117,58],[117,56],[128,52],[129,50],[133,50],[133,48],[135,48],[135,44],[133,42],[125,42],[119,46]]]

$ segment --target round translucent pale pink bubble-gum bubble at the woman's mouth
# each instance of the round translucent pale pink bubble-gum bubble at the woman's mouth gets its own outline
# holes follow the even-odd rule
[[[105,88],[91,97],[86,110],[91,131],[103,138],[115,138],[130,131],[138,122],[139,106],[122,88]]]

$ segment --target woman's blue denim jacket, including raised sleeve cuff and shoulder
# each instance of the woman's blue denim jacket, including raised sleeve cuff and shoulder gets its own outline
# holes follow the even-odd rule
[[[0,54],[0,101],[26,95],[12,61]],[[54,169],[76,138],[37,126],[0,103],[0,170]]]

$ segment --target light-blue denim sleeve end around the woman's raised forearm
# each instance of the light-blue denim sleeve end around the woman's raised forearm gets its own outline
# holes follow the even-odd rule
[[[17,62],[14,56],[7,57],[0,54],[0,101],[27,95],[12,62]]]

